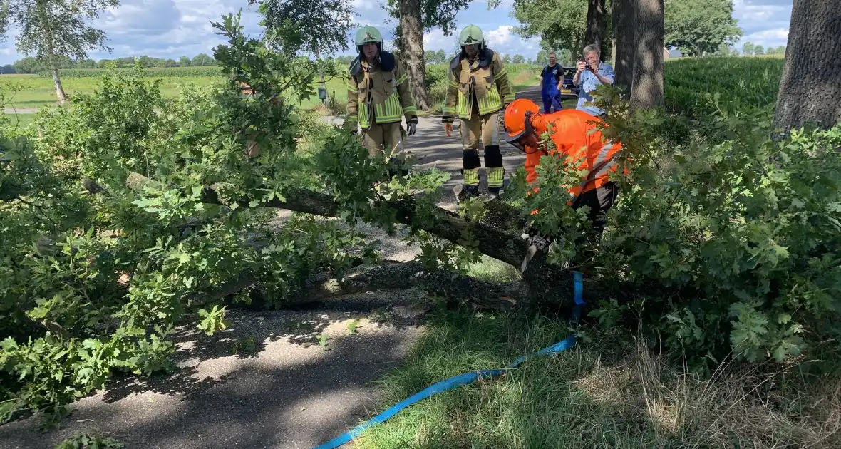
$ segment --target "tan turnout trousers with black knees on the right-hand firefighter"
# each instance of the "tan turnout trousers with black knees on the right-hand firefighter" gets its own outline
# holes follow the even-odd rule
[[[488,174],[488,188],[502,188],[505,168],[502,167],[500,151],[499,113],[470,114],[470,119],[462,119],[462,173],[465,186],[479,186],[479,140],[484,149],[484,168]]]

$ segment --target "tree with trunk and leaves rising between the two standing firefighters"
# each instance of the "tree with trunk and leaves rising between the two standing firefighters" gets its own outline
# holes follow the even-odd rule
[[[398,48],[418,108],[426,110],[430,106],[426,95],[423,34],[441,28],[445,36],[451,35],[456,25],[456,14],[467,8],[469,3],[470,0],[389,0],[389,14],[399,20]]]

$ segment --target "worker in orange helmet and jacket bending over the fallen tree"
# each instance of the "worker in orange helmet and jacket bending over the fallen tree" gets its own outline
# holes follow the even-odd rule
[[[540,114],[537,104],[525,98],[515,100],[505,109],[505,140],[526,153],[526,182],[537,181],[535,167],[542,156],[566,156],[571,161],[580,161],[579,168],[589,171],[578,185],[568,188],[572,195],[569,204],[574,209],[590,206],[588,219],[592,222],[596,240],[607,224],[607,210],[616,202],[619,193],[619,186],[610,180],[610,174],[619,168],[622,149],[619,142],[605,141],[597,122],[600,122],[599,118],[578,109]],[[550,138],[556,149],[547,151],[540,145],[540,135],[550,128]],[[535,251],[530,248],[530,252],[533,256]],[[526,263],[527,260],[523,269]]]

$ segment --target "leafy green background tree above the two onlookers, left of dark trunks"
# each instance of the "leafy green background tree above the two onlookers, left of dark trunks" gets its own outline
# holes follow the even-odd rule
[[[580,55],[584,47],[589,0],[515,0],[516,34],[539,36],[543,48],[569,50]]]

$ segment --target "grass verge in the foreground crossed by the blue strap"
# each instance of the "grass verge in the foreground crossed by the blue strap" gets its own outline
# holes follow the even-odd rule
[[[569,335],[542,315],[436,312],[382,409],[445,378],[499,368]],[[411,405],[357,448],[839,447],[841,381],[728,368],[711,380],[671,369],[623,330],[589,338]]]

